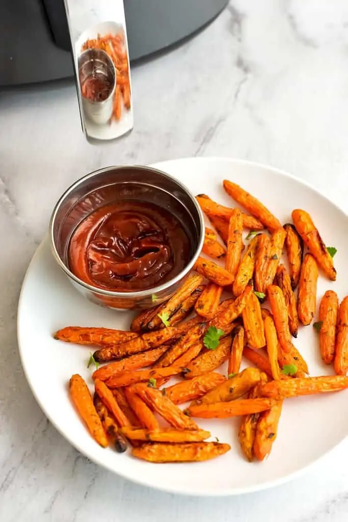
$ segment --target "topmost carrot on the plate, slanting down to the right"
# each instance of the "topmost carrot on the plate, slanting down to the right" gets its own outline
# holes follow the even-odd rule
[[[270,232],[281,227],[280,221],[273,216],[265,205],[262,205],[256,197],[251,196],[251,194],[246,192],[242,187],[228,180],[223,181],[223,187],[229,196],[250,212],[251,215],[261,221]]]

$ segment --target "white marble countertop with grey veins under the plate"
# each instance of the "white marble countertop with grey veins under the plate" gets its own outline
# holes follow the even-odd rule
[[[194,39],[134,68],[134,131],[101,146],[81,132],[71,81],[0,94],[0,520],[347,520],[348,441],[296,481],[225,499],[151,491],[100,469],[45,418],[16,340],[21,282],[52,207],[94,169],[244,158],[305,179],[347,211],[347,27],[344,0],[234,0]]]

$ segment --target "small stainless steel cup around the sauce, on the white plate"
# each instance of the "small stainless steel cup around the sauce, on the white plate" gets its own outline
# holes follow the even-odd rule
[[[149,290],[115,292],[91,286],[76,277],[68,265],[71,235],[83,219],[104,205],[140,200],[169,209],[186,229],[192,258],[176,277]],[[58,200],[51,217],[53,255],[74,287],[89,301],[117,310],[149,308],[171,297],[193,268],[204,241],[204,219],[196,198],[169,174],[141,165],[107,167],[82,177]]]

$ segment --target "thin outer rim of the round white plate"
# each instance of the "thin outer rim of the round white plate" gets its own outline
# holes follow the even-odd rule
[[[157,163],[152,163],[149,166],[153,167],[153,168],[156,168],[156,169],[159,169],[159,170],[164,170],[164,172],[166,172],[165,171],[165,167],[166,167],[167,164],[174,163],[174,162],[182,162],[182,161],[193,161],[193,162],[217,162],[217,161],[223,161],[223,162],[230,162],[231,164],[249,165],[250,167],[263,168],[263,169],[270,170],[270,171],[272,171],[272,172],[274,172],[276,174],[279,174],[280,176],[284,176],[284,177],[290,178],[290,179],[295,180],[298,183],[300,183],[302,185],[305,185],[306,187],[310,188],[311,191],[315,192],[317,195],[319,195],[320,197],[324,198],[326,201],[328,201],[328,203],[330,205],[335,207],[335,209],[337,209],[340,212],[342,212],[345,217],[348,217],[348,214],[340,206],[338,206],[337,204],[333,203],[333,201],[331,201],[330,198],[328,198],[325,194],[320,192],[317,188],[315,188],[313,185],[311,185],[307,181],[305,181],[305,180],[303,180],[303,179],[301,179],[301,178],[299,178],[299,177],[297,177],[297,176],[295,176],[293,174],[290,174],[289,172],[283,171],[283,170],[275,168],[275,167],[271,167],[270,165],[267,165],[267,164],[258,163],[258,162],[250,161],[250,160],[235,159],[235,158],[231,158],[231,157],[209,156],[209,157],[184,157],[184,158],[177,158],[177,159],[165,160],[165,161],[160,161],[160,162],[157,162]],[[30,268],[31,268],[32,264],[34,263],[36,257],[40,255],[41,250],[42,250],[42,248],[44,247],[44,245],[46,244],[47,241],[49,241],[49,234],[48,233],[45,235],[44,239],[42,240],[42,242],[38,246],[37,250],[34,252],[34,255],[31,258],[31,261],[30,261],[29,266],[27,268],[25,277],[23,278],[23,281],[22,281],[22,286],[21,286],[21,290],[20,290],[20,294],[19,294],[19,300],[18,300],[18,309],[17,309],[18,351],[19,351],[19,355],[20,355],[20,360],[21,360],[23,372],[24,372],[25,377],[27,379],[28,385],[29,385],[29,387],[31,389],[31,392],[32,392],[35,400],[38,402],[38,405],[40,406],[41,410],[43,411],[43,413],[45,414],[47,419],[49,419],[49,421],[52,423],[52,425],[58,431],[58,433],[60,433],[65,438],[65,440],[67,440],[71,444],[71,446],[73,446],[75,449],[77,449],[83,456],[87,457],[89,460],[94,462],[94,464],[97,464],[98,466],[100,466],[100,467],[102,467],[104,469],[107,469],[107,470],[115,473],[119,477],[122,477],[124,479],[129,480],[130,482],[133,482],[135,484],[142,485],[144,487],[151,488],[151,489],[154,489],[154,490],[163,491],[163,492],[166,492],[166,493],[174,493],[174,494],[177,494],[177,495],[194,496],[194,497],[201,497],[201,496],[227,497],[227,496],[236,496],[236,495],[242,495],[242,494],[254,493],[254,492],[258,492],[258,491],[267,490],[267,489],[274,488],[274,487],[277,487],[279,485],[285,484],[287,482],[293,481],[293,480],[295,480],[296,478],[298,478],[300,476],[303,476],[305,473],[307,473],[310,470],[312,470],[313,468],[317,467],[323,459],[329,457],[338,448],[338,446],[340,444],[342,444],[342,442],[348,436],[348,434],[347,434],[346,436],[342,437],[340,441],[338,441],[336,444],[334,444],[329,450],[324,452],[320,457],[318,457],[318,458],[314,459],[313,461],[309,462],[309,464],[303,466],[301,469],[298,469],[298,470],[296,470],[296,471],[294,471],[292,473],[289,473],[289,474],[287,474],[284,477],[281,477],[281,478],[275,479],[275,480],[265,481],[265,482],[263,482],[262,484],[259,484],[259,485],[253,485],[253,486],[244,487],[244,488],[233,488],[231,490],[223,490],[221,492],[217,492],[217,491],[212,492],[209,489],[201,489],[199,492],[197,492],[196,490],[195,491],[190,491],[190,490],[184,491],[182,489],[175,488],[175,487],[165,487],[164,485],[161,486],[161,484],[152,483],[150,481],[147,481],[146,480],[146,476],[145,477],[141,477],[141,478],[136,478],[133,474],[128,474],[127,473],[127,469],[122,469],[121,471],[116,471],[112,466],[108,466],[104,462],[103,463],[99,462],[98,458],[96,458],[92,454],[92,452],[86,451],[79,444],[76,444],[76,441],[73,441],[72,437],[66,435],[63,432],[63,430],[60,429],[58,425],[56,425],[56,423],[55,423],[54,419],[52,418],[51,414],[49,412],[45,411],[39,396],[37,395],[37,393],[35,393],[34,385],[31,383],[31,378],[28,375],[27,369],[26,369],[26,367],[25,367],[25,365],[23,363],[22,349],[21,349],[21,342],[20,342],[20,337],[21,337],[21,334],[20,334],[20,315],[21,315],[21,302],[22,302],[22,298],[23,298],[23,290],[25,288],[26,280],[27,280],[27,278],[28,278],[28,276],[30,274]]]

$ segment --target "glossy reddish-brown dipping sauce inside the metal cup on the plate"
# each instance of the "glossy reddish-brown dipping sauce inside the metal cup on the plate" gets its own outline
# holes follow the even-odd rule
[[[71,236],[69,268],[105,290],[148,290],[173,279],[193,253],[185,228],[147,201],[115,201],[83,220]]]

